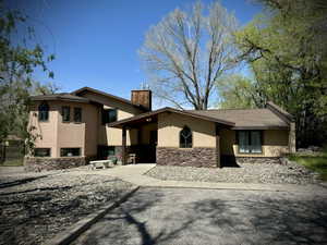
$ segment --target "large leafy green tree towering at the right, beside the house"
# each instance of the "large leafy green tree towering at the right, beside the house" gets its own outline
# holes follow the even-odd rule
[[[272,100],[294,115],[298,145],[323,144],[327,137],[327,52],[319,41],[323,34],[315,32],[322,12],[307,14],[305,5],[311,3],[302,0],[262,2],[267,3],[269,14],[257,16],[235,35],[241,59],[254,73],[262,102]]]

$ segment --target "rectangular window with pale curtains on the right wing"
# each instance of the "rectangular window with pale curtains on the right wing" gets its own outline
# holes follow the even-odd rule
[[[239,131],[240,154],[262,154],[261,131]]]

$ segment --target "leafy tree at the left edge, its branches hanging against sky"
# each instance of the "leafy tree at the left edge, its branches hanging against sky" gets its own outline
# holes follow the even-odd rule
[[[53,77],[46,64],[55,57],[45,58],[40,46],[27,45],[27,38],[33,40],[34,37],[31,26],[26,27],[27,37],[19,32],[27,25],[27,20],[23,13],[7,8],[0,0],[0,144],[10,133],[31,143],[27,130],[31,76],[36,68],[41,68]]]

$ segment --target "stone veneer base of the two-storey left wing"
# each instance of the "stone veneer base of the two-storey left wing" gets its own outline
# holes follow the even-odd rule
[[[39,172],[43,170],[70,169],[87,164],[95,157],[64,157],[64,158],[40,158],[25,157],[24,167],[26,171]]]

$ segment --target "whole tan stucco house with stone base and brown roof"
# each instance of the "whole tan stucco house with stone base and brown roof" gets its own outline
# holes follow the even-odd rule
[[[152,110],[150,90],[126,100],[94,88],[34,96],[29,170],[86,164],[117,156],[126,163],[223,167],[229,162],[277,162],[295,150],[292,117],[268,102],[263,109]]]

